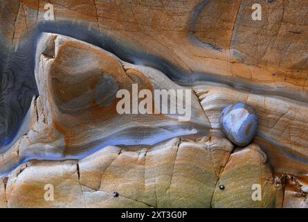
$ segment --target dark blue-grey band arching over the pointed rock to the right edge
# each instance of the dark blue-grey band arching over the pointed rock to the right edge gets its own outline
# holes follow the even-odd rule
[[[41,22],[33,33],[29,33],[27,40],[19,43],[17,51],[14,53],[10,53],[10,50],[12,50],[10,47],[3,46],[3,44],[6,44],[6,42],[3,42],[3,38],[0,40],[1,49],[3,49],[0,52],[0,71],[3,73],[2,96],[4,103],[2,104],[5,104],[4,110],[11,109],[14,113],[12,115],[11,112],[6,112],[4,116],[3,114],[1,115],[1,121],[10,124],[2,124],[0,126],[0,144],[2,144],[0,145],[2,146],[0,153],[6,150],[3,147],[4,144],[15,141],[15,135],[30,106],[30,101],[33,96],[37,96],[37,86],[34,78],[34,56],[37,39],[43,32],[67,35],[99,46],[127,62],[158,69],[171,80],[181,85],[194,85],[199,82],[210,81],[224,83],[239,89],[246,89],[250,92],[278,94],[297,100],[308,101],[306,94],[302,93],[299,95],[298,92],[287,92],[284,88],[272,89],[262,85],[251,84],[248,80],[237,80],[235,82],[232,78],[212,76],[208,73],[193,72],[188,74],[183,68],[177,67],[163,58],[158,58],[146,51],[141,51],[136,46],[130,46],[125,40],[114,40],[104,33],[98,33],[96,30],[89,31],[87,26],[76,25],[72,22],[57,22],[57,27],[55,27],[54,22]]]

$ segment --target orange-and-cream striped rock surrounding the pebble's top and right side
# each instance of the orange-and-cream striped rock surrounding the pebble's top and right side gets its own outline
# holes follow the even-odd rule
[[[230,103],[243,102],[257,110],[259,126],[255,142],[264,149],[275,171],[305,176],[308,129],[306,103],[266,94],[238,91],[224,85],[200,85],[194,91],[201,100],[212,128],[220,128],[219,114]],[[236,96],[235,96],[236,95]]]

